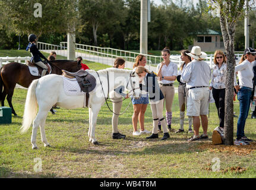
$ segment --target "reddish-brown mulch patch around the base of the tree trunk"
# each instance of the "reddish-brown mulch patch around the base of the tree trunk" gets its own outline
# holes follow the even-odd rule
[[[239,156],[248,156],[256,151],[256,143],[252,142],[249,145],[213,145],[211,143],[204,143],[198,147],[200,150],[208,150],[215,153],[230,153]]]

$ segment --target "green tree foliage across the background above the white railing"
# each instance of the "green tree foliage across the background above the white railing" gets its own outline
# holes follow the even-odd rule
[[[42,18],[33,16],[36,2],[42,4]],[[189,0],[163,2],[157,6],[151,1],[148,49],[187,49],[198,31],[221,32],[219,18],[208,11],[209,1],[199,0],[197,5]],[[255,24],[251,23],[251,29]],[[244,49],[244,24],[240,25],[235,34],[236,50]],[[43,42],[58,44],[67,40],[67,31],[72,27],[77,43],[139,49],[140,0],[0,0],[0,48],[17,47],[15,35],[20,34],[21,42],[25,42],[29,33],[39,37],[42,34]],[[256,41],[253,36],[251,40]]]

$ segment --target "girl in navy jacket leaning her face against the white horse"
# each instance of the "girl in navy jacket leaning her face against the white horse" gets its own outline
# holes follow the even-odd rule
[[[141,90],[147,91],[150,99],[150,107],[153,117],[153,130],[152,134],[147,137],[147,139],[158,138],[159,132],[157,124],[160,121],[164,132],[162,140],[166,140],[167,138],[170,138],[170,134],[166,127],[165,118],[163,117],[164,96],[160,90],[157,76],[149,72],[146,68],[144,68],[144,66],[138,66],[136,68],[136,73],[139,77],[141,77],[141,81],[144,81],[144,84],[141,85]]]

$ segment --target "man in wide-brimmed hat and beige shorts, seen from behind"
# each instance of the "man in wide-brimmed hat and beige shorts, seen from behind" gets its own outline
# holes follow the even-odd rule
[[[193,117],[194,135],[188,141],[197,141],[208,138],[208,105],[209,105],[209,82],[211,69],[207,62],[203,61],[207,58],[207,54],[201,52],[199,46],[192,47],[191,53],[192,61],[185,67],[181,74],[181,81],[187,83],[188,102],[187,115]],[[203,127],[203,134],[199,136],[200,118]]]

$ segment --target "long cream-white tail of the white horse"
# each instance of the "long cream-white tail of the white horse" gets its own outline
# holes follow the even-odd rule
[[[36,99],[36,86],[38,80],[33,80],[27,90],[27,98],[25,103],[24,115],[23,115],[23,124],[21,126],[21,134],[27,132],[32,124],[37,113],[37,99]]]

